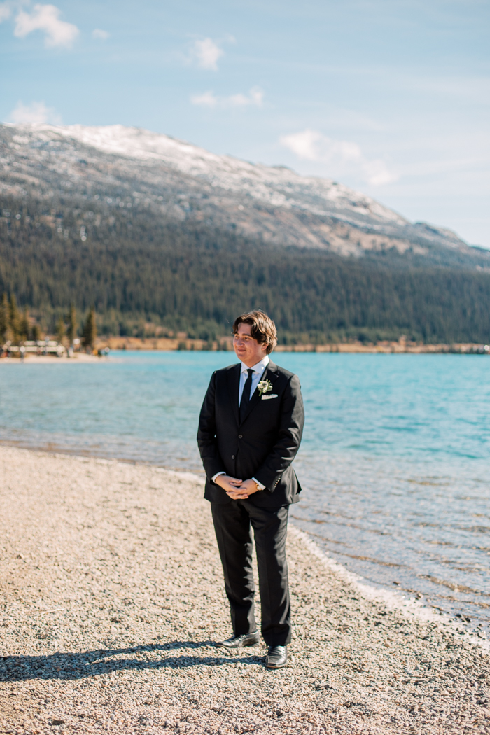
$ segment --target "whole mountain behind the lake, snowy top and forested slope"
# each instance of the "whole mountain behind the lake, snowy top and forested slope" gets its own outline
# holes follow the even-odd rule
[[[73,304],[104,334],[210,342],[262,308],[282,344],[488,343],[490,252],[329,179],[167,136],[3,125],[2,294],[50,333]]]

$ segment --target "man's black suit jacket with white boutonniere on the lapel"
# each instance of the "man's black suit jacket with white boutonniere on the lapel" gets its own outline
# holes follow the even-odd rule
[[[304,409],[298,376],[269,362],[261,380],[273,388],[263,397],[253,392],[240,423],[238,390],[241,365],[213,373],[199,417],[198,446],[204,470],[204,497],[212,503],[230,503],[222,487],[212,481],[218,472],[265,485],[249,501],[276,508],[298,502],[301,491],[291,463],[303,434]],[[270,398],[266,398],[269,395]]]

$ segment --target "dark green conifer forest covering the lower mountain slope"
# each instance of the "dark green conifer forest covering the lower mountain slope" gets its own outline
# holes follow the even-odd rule
[[[162,223],[90,204],[4,201],[0,293],[54,331],[70,303],[102,334],[212,340],[262,308],[282,343],[489,342],[490,274],[271,248],[206,223]],[[7,215],[5,214],[7,212]]]

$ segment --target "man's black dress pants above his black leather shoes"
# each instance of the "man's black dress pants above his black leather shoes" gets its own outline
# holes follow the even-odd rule
[[[289,506],[259,508],[251,501],[231,501],[223,505],[211,503],[211,508],[234,635],[256,631],[253,528],[259,567],[262,637],[267,645],[287,645],[291,640],[291,603],[286,561]]]

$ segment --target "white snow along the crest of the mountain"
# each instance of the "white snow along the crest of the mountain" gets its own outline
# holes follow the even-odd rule
[[[30,134],[37,140],[74,140],[106,154],[165,165],[204,179],[212,186],[245,193],[275,208],[304,209],[320,216],[337,216],[338,212],[339,218],[344,219],[348,219],[351,213],[356,215],[358,221],[365,221],[369,225],[409,224],[392,209],[331,179],[300,176],[289,168],[254,164],[213,154],[169,135],[123,125],[26,123],[16,127],[24,136]]]

